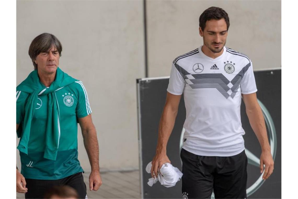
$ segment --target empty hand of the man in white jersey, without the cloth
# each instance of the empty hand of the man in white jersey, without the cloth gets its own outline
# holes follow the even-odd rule
[[[263,172],[264,165],[265,164],[265,172],[263,174],[263,180],[266,180],[269,178],[269,176],[272,174],[274,169],[274,162],[272,159],[271,152],[266,150],[262,151],[261,157],[260,157],[260,171]]]

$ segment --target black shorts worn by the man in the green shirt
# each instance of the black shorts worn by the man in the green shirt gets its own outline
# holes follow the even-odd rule
[[[59,180],[36,180],[25,179],[28,192],[25,193],[25,198],[44,198],[45,193],[53,186],[68,185],[74,188],[79,198],[85,198],[87,195],[86,184],[82,172],[70,175]]]

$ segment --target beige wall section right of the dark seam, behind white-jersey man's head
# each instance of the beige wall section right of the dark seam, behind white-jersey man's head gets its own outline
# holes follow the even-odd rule
[[[149,77],[169,76],[171,62],[203,44],[199,17],[211,6],[229,15],[226,46],[254,70],[281,67],[281,1],[147,1]]]

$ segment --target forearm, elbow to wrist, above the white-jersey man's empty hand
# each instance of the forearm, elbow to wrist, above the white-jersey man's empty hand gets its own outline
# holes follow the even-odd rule
[[[265,125],[263,113],[260,106],[257,104],[251,109],[246,109],[246,114],[249,118],[249,123],[258,138],[262,151],[265,151],[265,150],[270,151],[266,125]]]

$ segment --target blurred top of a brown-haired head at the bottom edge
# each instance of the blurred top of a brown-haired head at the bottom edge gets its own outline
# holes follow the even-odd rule
[[[77,191],[67,185],[64,186],[53,186],[49,189],[48,192],[44,195],[44,198],[68,198],[68,199],[75,199],[79,198]]]

